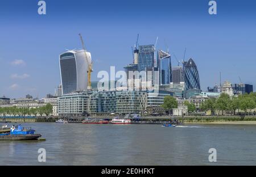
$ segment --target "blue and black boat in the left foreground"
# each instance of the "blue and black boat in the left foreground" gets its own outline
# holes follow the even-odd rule
[[[12,125],[10,132],[0,133],[0,140],[38,140],[41,136],[41,134],[35,134],[35,130],[31,128]]]

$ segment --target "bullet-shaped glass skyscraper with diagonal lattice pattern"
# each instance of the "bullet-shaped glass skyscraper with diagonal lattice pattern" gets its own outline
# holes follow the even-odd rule
[[[190,58],[184,65],[184,81],[186,90],[200,90],[199,73],[195,62]]]

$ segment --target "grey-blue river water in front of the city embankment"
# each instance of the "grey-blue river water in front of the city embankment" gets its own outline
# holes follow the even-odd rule
[[[256,165],[256,125],[22,125],[46,141],[0,141],[0,165]]]

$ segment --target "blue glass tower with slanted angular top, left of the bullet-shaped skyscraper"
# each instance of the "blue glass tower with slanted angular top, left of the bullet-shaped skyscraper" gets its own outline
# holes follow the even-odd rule
[[[163,50],[158,51],[158,64],[160,85],[168,85],[172,82],[171,55]]]

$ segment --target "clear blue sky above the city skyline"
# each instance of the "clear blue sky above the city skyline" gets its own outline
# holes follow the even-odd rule
[[[256,86],[256,1],[217,0],[217,15],[209,15],[208,0],[38,1],[0,3],[0,96],[42,98],[60,83],[59,54],[81,48],[82,33],[94,61],[93,81],[100,70],[132,62],[131,46],[154,44],[181,60],[192,57],[201,87],[222,79]],[[176,66],[175,58],[172,65]]]

